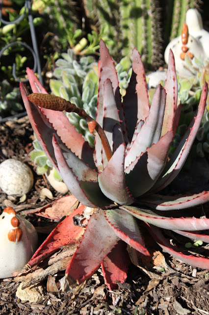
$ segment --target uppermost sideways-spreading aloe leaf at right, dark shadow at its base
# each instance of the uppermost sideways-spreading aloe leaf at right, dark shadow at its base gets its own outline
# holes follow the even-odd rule
[[[209,191],[202,191],[194,195],[185,196],[163,196],[160,194],[149,195],[147,198],[141,198],[140,203],[156,210],[178,210],[185,209],[209,201]]]

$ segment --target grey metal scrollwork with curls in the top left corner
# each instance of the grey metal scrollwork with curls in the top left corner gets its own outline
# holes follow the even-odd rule
[[[26,9],[28,9],[28,14],[27,14],[27,19],[29,22],[29,27],[30,27],[30,35],[31,35],[31,40],[32,40],[32,48],[27,45],[24,42],[21,41],[15,41],[12,43],[9,43],[8,45],[6,45],[4,48],[2,48],[0,50],[0,58],[3,55],[4,51],[6,49],[8,49],[9,47],[12,46],[16,46],[16,45],[21,45],[24,46],[26,49],[28,49],[30,51],[30,53],[33,56],[33,60],[34,60],[34,65],[33,65],[33,71],[34,72],[38,72],[39,75],[39,81],[41,82],[41,84],[43,84],[43,79],[41,76],[41,63],[40,63],[40,59],[39,59],[39,54],[38,54],[38,47],[37,47],[37,41],[36,41],[36,35],[35,35],[35,29],[34,29],[34,24],[33,24],[33,16],[32,16],[32,10],[31,10],[31,3],[30,0],[25,0],[25,10],[24,13],[22,13],[15,21],[9,22],[9,21],[5,21],[2,18],[2,5],[3,5],[3,0],[0,0],[0,21],[1,23],[8,25],[8,24],[18,24],[19,22],[21,22],[24,18],[26,18]],[[27,82],[28,80],[20,80],[17,75],[16,75],[16,63],[13,63],[13,67],[12,67],[12,75],[14,77],[14,79],[18,82],[22,81],[22,82]]]

